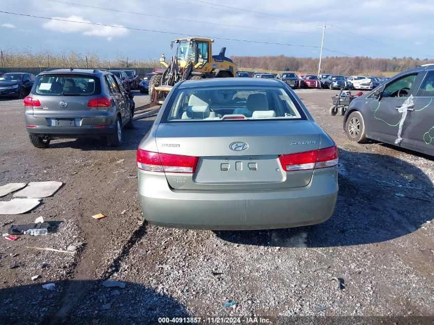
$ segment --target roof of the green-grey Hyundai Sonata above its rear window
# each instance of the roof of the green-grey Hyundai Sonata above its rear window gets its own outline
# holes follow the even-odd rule
[[[187,80],[180,83],[179,88],[213,87],[213,86],[278,86],[277,79],[261,78],[210,78],[202,80]]]

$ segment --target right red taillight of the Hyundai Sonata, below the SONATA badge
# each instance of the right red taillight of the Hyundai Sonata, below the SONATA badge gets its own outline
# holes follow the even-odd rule
[[[337,147],[297,152],[297,154],[279,156],[285,171],[327,168],[337,165]]]

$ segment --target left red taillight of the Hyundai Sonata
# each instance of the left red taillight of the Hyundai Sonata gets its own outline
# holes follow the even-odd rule
[[[137,149],[137,167],[147,171],[193,174],[198,161],[199,157],[159,154]]]

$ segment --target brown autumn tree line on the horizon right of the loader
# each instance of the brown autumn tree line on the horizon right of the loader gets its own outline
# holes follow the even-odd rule
[[[319,58],[296,58],[295,56],[231,56],[231,59],[246,70],[265,70],[266,72],[293,71],[302,73],[318,72]],[[374,59],[366,56],[328,56],[321,61],[321,73],[342,75],[373,74],[386,77],[414,68],[434,60],[413,58]]]

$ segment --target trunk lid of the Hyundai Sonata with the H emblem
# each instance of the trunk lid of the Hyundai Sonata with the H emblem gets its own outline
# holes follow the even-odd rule
[[[175,189],[277,189],[309,184],[312,169],[286,172],[279,155],[318,149],[320,134],[305,120],[163,123],[156,142],[159,152],[199,157],[193,174],[165,173]]]

